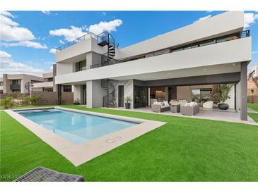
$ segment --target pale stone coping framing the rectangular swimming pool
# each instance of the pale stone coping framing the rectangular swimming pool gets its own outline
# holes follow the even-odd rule
[[[56,108],[65,111],[72,111],[76,113],[84,113],[93,116],[101,116],[105,118],[115,118],[117,120],[124,120],[133,123],[139,123],[132,127],[125,128],[123,130],[119,130],[117,132],[112,132],[107,135],[103,135],[101,137],[91,139],[88,142],[84,142],[82,144],[74,144],[70,142],[68,139],[61,137],[60,135],[47,130],[45,127],[38,125],[37,123],[29,120],[21,116],[20,114],[16,113],[16,111],[25,111],[25,110],[35,110],[35,109],[42,109],[42,108],[23,108],[23,109],[13,109],[13,110],[5,110],[9,116],[16,119],[20,124],[24,125],[28,128],[31,132],[33,132],[37,137],[40,137],[42,141],[49,144],[52,148],[54,148],[59,154],[67,158],[74,166],[79,166],[82,163],[90,161],[91,159],[98,157],[102,154],[115,149],[122,144],[125,144],[137,137],[150,132],[162,125],[165,122],[160,122],[156,120],[146,120],[140,118],[129,118],[124,116],[115,116],[106,113],[96,113],[91,111],[82,111],[73,108],[63,108],[59,106],[53,107],[45,107],[43,109],[49,108]]]

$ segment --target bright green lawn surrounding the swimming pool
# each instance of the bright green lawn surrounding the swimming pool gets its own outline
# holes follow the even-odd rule
[[[258,181],[258,127],[151,113],[86,109],[167,124],[75,167],[1,111],[1,180],[45,166],[87,181]],[[6,179],[7,177],[7,179]]]

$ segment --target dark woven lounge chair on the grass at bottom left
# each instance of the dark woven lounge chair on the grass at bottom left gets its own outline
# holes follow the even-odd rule
[[[59,173],[40,166],[25,173],[14,182],[84,182],[84,178],[81,175]]]

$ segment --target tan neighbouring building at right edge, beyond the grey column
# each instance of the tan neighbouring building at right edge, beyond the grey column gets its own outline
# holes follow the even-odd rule
[[[258,96],[258,65],[249,70],[247,74],[247,96],[252,96],[252,89],[254,96]]]

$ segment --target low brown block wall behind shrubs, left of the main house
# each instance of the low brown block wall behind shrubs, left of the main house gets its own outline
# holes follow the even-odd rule
[[[32,92],[31,96],[42,97],[42,99],[38,102],[39,105],[57,104],[57,92]],[[73,104],[74,92],[62,92],[61,99],[63,104]]]

